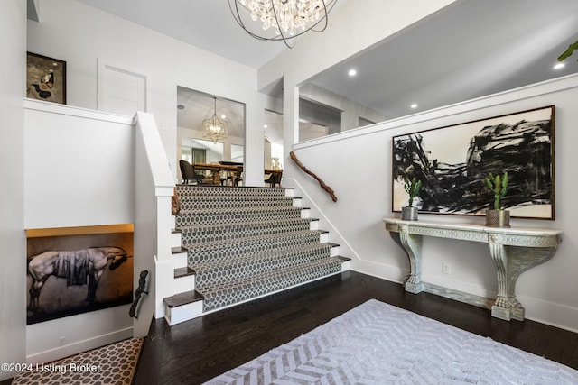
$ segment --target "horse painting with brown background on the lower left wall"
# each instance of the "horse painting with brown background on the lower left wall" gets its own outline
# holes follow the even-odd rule
[[[133,225],[26,235],[27,325],[132,302]]]

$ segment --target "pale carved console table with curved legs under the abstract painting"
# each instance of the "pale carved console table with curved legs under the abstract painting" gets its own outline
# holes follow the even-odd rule
[[[489,243],[489,254],[498,274],[498,297],[491,305],[491,315],[507,321],[512,318],[524,320],[524,307],[516,298],[517,278],[524,271],[552,258],[562,242],[562,232],[554,229],[456,225],[396,218],[384,218],[383,221],[386,230],[409,258],[410,272],[405,288],[415,294],[424,291],[428,285],[421,280],[424,235]],[[461,300],[480,306],[480,301],[473,297],[462,295]]]

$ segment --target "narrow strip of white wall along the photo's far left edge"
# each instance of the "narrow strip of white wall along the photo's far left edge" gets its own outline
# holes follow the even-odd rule
[[[26,269],[23,232],[23,96],[26,68],[26,1],[0,5],[0,362],[24,362]],[[0,371],[0,380],[15,373]]]

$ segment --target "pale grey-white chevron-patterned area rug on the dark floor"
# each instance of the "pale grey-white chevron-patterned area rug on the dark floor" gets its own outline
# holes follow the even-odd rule
[[[578,371],[371,299],[207,383],[577,384]]]

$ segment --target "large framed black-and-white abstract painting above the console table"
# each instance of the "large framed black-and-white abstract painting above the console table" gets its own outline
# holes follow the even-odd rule
[[[508,171],[501,199],[513,217],[554,219],[555,106],[395,136],[392,210],[406,206],[404,179],[422,180],[414,206],[427,214],[484,215],[484,179]]]

